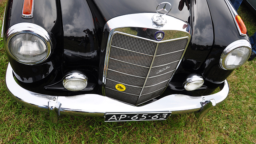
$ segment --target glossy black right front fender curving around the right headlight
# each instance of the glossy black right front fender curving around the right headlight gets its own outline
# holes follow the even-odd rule
[[[214,2],[208,0],[207,2],[214,25],[214,46],[204,63],[203,74],[206,80],[213,83],[221,83],[233,70],[223,70],[220,68],[218,59],[220,54],[228,44],[240,39],[248,40],[248,36],[244,37],[238,34],[234,19],[223,0],[215,0]]]

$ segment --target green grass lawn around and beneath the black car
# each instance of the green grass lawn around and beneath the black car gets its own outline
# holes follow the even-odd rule
[[[0,4],[1,27],[4,6]],[[254,34],[256,16],[243,4],[238,13],[248,33]],[[0,143],[256,144],[256,59],[234,70],[228,77],[229,97],[203,120],[182,114],[165,121],[107,123],[103,118],[60,116],[59,122],[52,124],[47,113],[16,103],[4,86],[7,64],[0,38]]]

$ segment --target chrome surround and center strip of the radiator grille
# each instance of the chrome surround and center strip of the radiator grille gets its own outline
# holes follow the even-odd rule
[[[189,41],[190,41],[191,32],[192,32],[191,27],[186,22],[179,20],[177,18],[174,18],[172,16],[167,16],[167,15],[165,16],[166,20],[168,20],[170,22],[166,23],[164,26],[161,26],[161,27],[156,26],[154,23],[152,23],[151,18],[153,15],[155,15],[155,13],[128,14],[128,15],[123,15],[123,16],[118,16],[118,17],[112,18],[106,23],[104,29],[107,29],[109,31],[109,36],[108,36],[108,43],[106,46],[106,56],[105,56],[104,70],[103,70],[103,76],[102,76],[102,94],[104,96],[106,95],[104,88],[106,85],[106,76],[107,76],[107,70],[108,70],[108,62],[110,59],[110,49],[112,47],[111,46],[112,38],[113,38],[113,35],[116,33],[123,34],[126,36],[131,36],[134,38],[139,38],[142,40],[147,40],[150,42],[154,42],[157,45],[160,43],[163,43],[163,42],[187,39],[188,41],[187,41],[186,47],[184,48],[184,52],[178,62],[178,65],[175,68],[174,73],[176,72],[176,70],[184,56],[184,53],[186,52],[186,48],[188,47]],[[184,24],[188,25],[188,27],[183,28]],[[131,30],[131,28],[146,28],[146,29],[150,29],[150,30],[164,31],[168,36],[164,36],[164,39],[161,41],[157,41],[154,38],[152,38],[152,39],[143,38],[140,36],[136,36],[136,34],[134,35],[134,31]],[[174,34],[170,34],[169,33],[170,31],[177,32],[179,34],[179,36],[173,36]],[[157,47],[158,46],[156,46],[156,50],[157,50]],[[156,57],[156,50],[155,50],[154,57]],[[136,53],[138,53],[138,52],[136,52]],[[160,56],[162,56],[162,55],[165,55],[165,54],[160,54]],[[151,63],[150,69],[152,68],[153,61]],[[149,70],[149,72],[150,72],[150,70]],[[149,72],[148,72],[148,74],[149,74]],[[174,73],[172,74],[170,80],[174,76]],[[147,76],[147,78],[148,78],[148,76]],[[146,80],[144,82],[144,86],[145,86],[145,84],[146,84]],[[168,84],[166,85],[166,88],[167,88],[167,86],[168,86]],[[143,88],[141,90],[141,93],[142,93],[142,91],[143,91]],[[139,98],[138,98],[138,100],[139,100]]]

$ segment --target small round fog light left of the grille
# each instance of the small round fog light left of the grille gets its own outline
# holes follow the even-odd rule
[[[63,86],[70,91],[79,91],[86,88],[87,81],[88,78],[83,74],[68,74],[63,80]]]

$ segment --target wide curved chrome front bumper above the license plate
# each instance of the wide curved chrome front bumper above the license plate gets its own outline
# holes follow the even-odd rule
[[[98,94],[78,96],[50,96],[28,91],[14,80],[10,64],[6,70],[6,87],[14,100],[27,107],[49,112],[52,122],[62,114],[83,116],[104,116],[106,113],[163,112],[183,114],[195,112],[198,119],[214,106],[221,104],[228,96],[228,82],[220,86],[220,92],[208,96],[187,96],[172,94],[144,106],[132,106]]]

